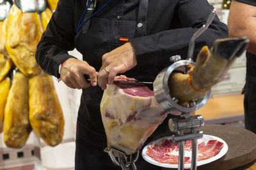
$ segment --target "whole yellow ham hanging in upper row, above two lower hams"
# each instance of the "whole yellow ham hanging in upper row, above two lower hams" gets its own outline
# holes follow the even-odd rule
[[[42,69],[36,63],[36,45],[42,31],[38,13],[24,13],[13,4],[6,23],[6,50],[16,67],[26,76],[35,76]]]

